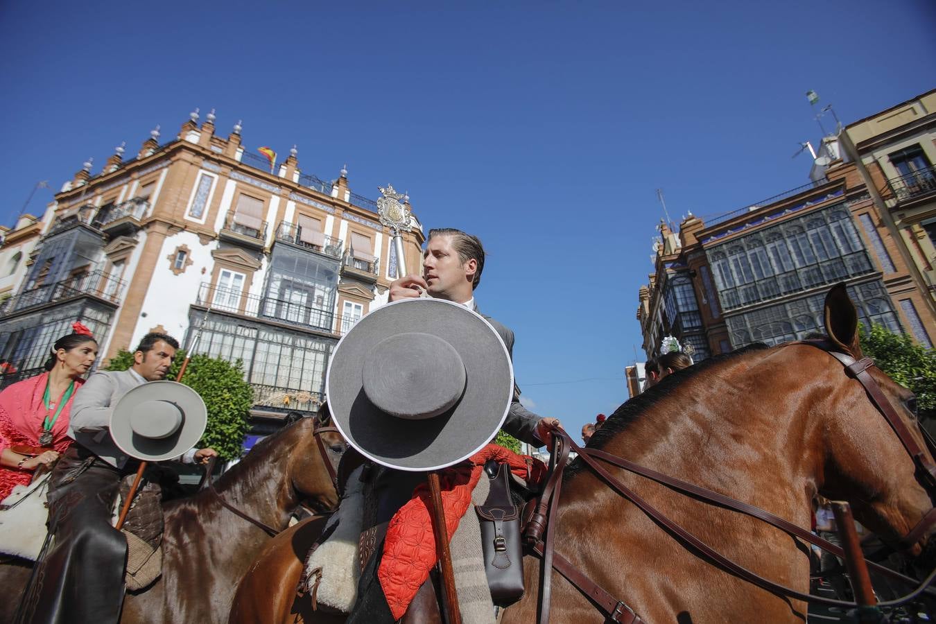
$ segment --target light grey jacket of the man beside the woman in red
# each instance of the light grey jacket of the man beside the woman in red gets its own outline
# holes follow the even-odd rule
[[[110,414],[124,395],[146,380],[133,370],[98,370],[75,393],[68,435],[111,466],[123,468],[127,457],[110,438]]]

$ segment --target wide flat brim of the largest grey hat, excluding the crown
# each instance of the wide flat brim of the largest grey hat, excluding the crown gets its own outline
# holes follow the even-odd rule
[[[443,339],[464,364],[464,394],[432,418],[386,414],[363,389],[362,368],[373,346],[408,332]],[[510,355],[494,328],[464,306],[431,298],[394,301],[361,318],[335,347],[326,376],[332,421],[347,443],[378,464],[411,472],[446,468],[483,448],[504,424],[513,388]]]

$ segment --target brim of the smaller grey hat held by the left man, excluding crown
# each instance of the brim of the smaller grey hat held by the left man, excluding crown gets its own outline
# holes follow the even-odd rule
[[[146,438],[136,433],[130,416],[150,400],[168,400],[183,413],[182,425],[167,438]],[[120,450],[143,461],[179,457],[201,439],[208,425],[208,409],[198,393],[176,382],[147,382],[127,392],[110,414],[110,437]]]

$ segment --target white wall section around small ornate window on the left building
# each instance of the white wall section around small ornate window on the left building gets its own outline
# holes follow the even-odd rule
[[[176,275],[169,270],[167,256],[180,245],[186,245],[190,250],[189,258],[192,264],[186,267],[183,273]],[[188,328],[189,306],[196,302],[201,283],[208,282],[211,275],[214,247],[213,242],[202,245],[197,235],[191,232],[179,232],[163,241],[156,259],[153,279],[143,298],[137,327],[133,330],[131,344],[139,342],[151,327],[158,325],[166,327],[169,335],[178,341],[183,341],[185,330]],[[201,272],[202,268],[205,269],[204,274]]]

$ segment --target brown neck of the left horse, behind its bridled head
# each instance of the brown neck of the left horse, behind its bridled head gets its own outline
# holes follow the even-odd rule
[[[291,454],[298,428],[279,434],[267,452],[248,453],[214,483],[225,502],[273,529],[285,529],[289,515],[299,504],[292,486]],[[261,449],[256,449],[260,451]]]

